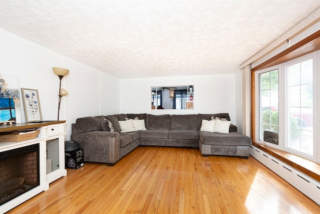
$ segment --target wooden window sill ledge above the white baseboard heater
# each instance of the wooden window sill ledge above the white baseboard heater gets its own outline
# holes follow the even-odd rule
[[[320,164],[256,142],[252,145],[320,182]]]

